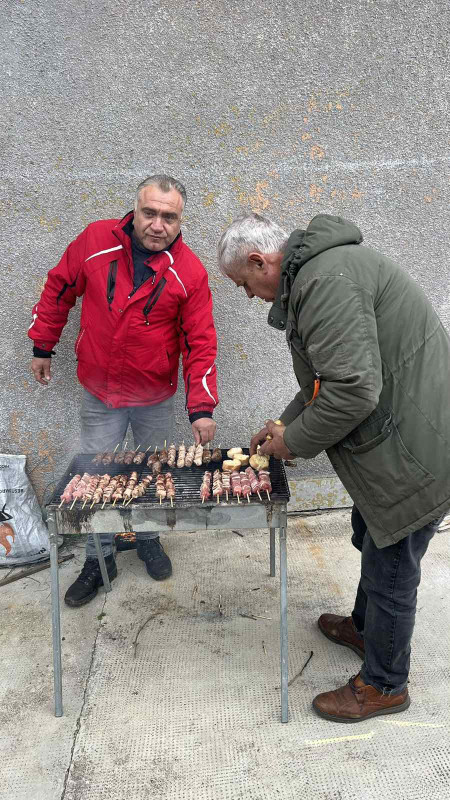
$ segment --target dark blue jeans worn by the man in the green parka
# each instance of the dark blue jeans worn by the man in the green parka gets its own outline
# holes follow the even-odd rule
[[[416,616],[420,562],[443,517],[378,549],[356,506],[352,544],[361,552],[361,579],[352,612],[364,636],[364,683],[385,694],[400,694],[408,683]]]

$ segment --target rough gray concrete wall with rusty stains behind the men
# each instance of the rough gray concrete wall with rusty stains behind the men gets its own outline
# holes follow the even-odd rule
[[[29,372],[30,309],[90,221],[122,216],[167,171],[188,188],[184,235],[211,281],[218,441],[245,443],[296,390],[283,336],[218,273],[243,210],[286,229],[355,221],[450,324],[444,0],[5,0],[0,449],[42,490],[78,449],[73,311],[48,389]],[[413,324],[413,321],[412,321]],[[183,390],[179,438],[188,437]],[[326,473],[323,459],[302,474]]]

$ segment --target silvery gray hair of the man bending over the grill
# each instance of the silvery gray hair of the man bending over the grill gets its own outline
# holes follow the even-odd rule
[[[275,222],[261,214],[237,217],[220,237],[217,246],[219,269],[224,275],[239,273],[246,266],[253,250],[259,253],[280,253],[288,234]]]

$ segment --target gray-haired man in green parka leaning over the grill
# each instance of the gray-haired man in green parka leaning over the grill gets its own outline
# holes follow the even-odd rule
[[[450,508],[449,337],[412,278],[361,242],[340,217],[319,214],[288,237],[250,214],[218,248],[222,272],[273,303],[268,322],[286,335],[301,387],[252,452],[260,443],[276,458],[325,450],[355,503],[355,607],[319,618],[328,639],[363,659],[346,686],[314,698],[336,722],[408,708],[420,562]]]

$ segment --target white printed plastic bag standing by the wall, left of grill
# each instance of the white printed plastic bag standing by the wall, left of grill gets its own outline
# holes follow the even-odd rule
[[[26,456],[0,453],[0,567],[47,561],[50,544]]]

